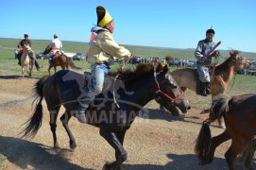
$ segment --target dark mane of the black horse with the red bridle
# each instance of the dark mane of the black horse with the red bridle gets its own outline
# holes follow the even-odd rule
[[[162,70],[162,64],[159,63],[156,71],[161,71]],[[154,73],[154,65],[152,63],[139,63],[136,66],[135,70],[131,70],[130,68],[125,69],[125,70],[117,70],[117,71],[111,71],[108,75],[109,76],[114,76],[118,79],[123,80],[124,82],[134,82],[142,77],[145,76],[152,76]]]

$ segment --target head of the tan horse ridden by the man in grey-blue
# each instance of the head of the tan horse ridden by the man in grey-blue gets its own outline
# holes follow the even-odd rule
[[[247,68],[247,59],[244,59],[242,56],[239,55],[238,50],[231,50],[230,51],[230,59],[235,63],[234,71],[242,70]]]

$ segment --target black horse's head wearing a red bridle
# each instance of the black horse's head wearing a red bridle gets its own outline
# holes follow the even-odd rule
[[[163,67],[161,64],[158,65],[155,72],[155,79],[158,91],[154,98],[158,103],[170,111],[173,110],[175,106],[177,106],[183,113],[186,113],[187,110],[190,109],[187,98],[169,72],[167,65]]]

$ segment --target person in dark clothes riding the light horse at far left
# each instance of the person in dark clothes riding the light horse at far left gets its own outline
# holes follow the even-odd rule
[[[24,40],[20,41],[19,44],[17,45],[17,47],[19,48],[19,52],[17,54],[17,58],[19,59],[18,64],[21,65],[21,57],[23,55],[23,48],[25,45],[28,45],[30,48],[32,48],[32,44],[31,41],[28,39],[28,34],[24,34]],[[30,59],[32,59],[33,63],[35,64],[37,70],[40,69],[40,66],[37,62],[37,59],[35,56],[29,56]]]

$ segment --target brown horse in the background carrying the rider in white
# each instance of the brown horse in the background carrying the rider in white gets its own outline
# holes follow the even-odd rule
[[[44,51],[43,51],[43,55],[48,54],[51,51],[51,48],[49,46],[47,46]],[[81,70],[80,67],[77,67],[74,62],[73,59],[68,58],[66,55],[64,54],[59,54],[56,53],[53,57],[53,59],[49,61],[49,68],[48,68],[48,72],[49,75],[51,75],[51,68],[54,67],[54,73],[56,73],[56,67],[60,66],[62,70],[68,70],[68,66],[71,66],[71,68],[76,69],[76,70]]]

